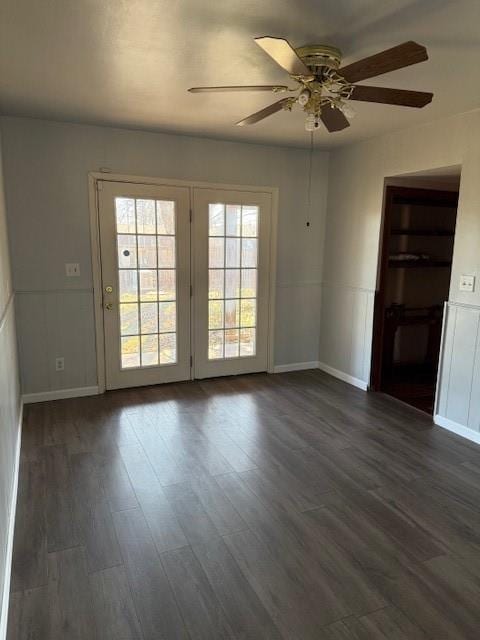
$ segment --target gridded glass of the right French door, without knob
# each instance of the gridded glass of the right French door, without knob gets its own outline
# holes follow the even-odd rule
[[[208,358],[256,353],[258,207],[209,205]]]

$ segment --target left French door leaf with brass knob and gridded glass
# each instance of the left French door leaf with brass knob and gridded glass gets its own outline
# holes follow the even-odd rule
[[[104,182],[99,204],[107,388],[188,379],[189,190]]]

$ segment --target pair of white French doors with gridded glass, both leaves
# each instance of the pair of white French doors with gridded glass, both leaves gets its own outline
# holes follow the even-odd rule
[[[106,388],[265,371],[271,195],[97,184]]]

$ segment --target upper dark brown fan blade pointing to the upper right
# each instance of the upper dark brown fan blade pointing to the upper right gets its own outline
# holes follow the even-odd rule
[[[408,67],[417,62],[428,60],[427,50],[416,42],[404,42],[397,47],[376,53],[358,62],[342,67],[338,73],[348,82],[359,82],[366,78],[381,76],[383,73]]]

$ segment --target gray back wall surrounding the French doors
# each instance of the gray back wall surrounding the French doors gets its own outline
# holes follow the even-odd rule
[[[280,188],[275,362],[316,361],[328,154],[107,127],[2,118],[24,393],[96,384],[87,174]],[[64,264],[79,262],[80,278]],[[35,318],[35,322],[32,322]],[[55,372],[55,358],[65,371]]]

